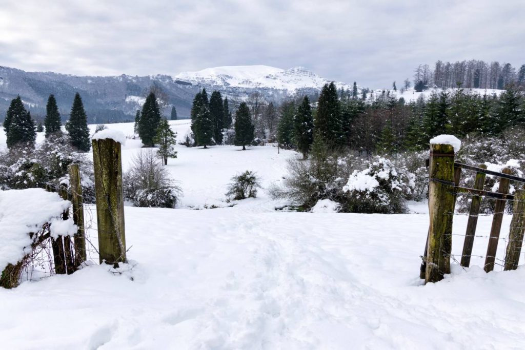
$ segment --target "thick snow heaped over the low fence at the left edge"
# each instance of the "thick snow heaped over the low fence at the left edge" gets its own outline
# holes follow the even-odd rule
[[[29,232],[37,232],[46,222],[51,222],[55,237],[74,234],[77,227],[72,220],[61,219],[70,205],[69,200],[41,188],[0,191],[0,271],[30,252]]]

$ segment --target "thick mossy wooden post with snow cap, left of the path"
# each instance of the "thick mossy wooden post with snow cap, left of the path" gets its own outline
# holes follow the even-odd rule
[[[99,131],[92,140],[100,263],[115,267],[126,261],[121,161],[124,143],[124,134],[114,130]]]

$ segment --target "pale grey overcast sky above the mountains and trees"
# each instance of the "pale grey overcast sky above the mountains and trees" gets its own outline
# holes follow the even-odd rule
[[[304,66],[370,88],[419,63],[525,63],[522,0],[0,0],[0,65],[75,75]]]

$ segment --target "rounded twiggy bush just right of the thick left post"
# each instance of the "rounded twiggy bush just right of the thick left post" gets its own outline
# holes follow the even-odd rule
[[[169,171],[152,150],[135,155],[122,181],[124,198],[136,207],[173,208],[181,194]]]

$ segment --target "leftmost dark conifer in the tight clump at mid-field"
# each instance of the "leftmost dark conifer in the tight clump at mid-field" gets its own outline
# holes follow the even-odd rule
[[[191,129],[195,136],[195,142],[206,149],[208,148],[207,145],[212,143],[214,130],[207,99],[204,96],[206,96],[206,90],[203,89],[203,92],[197,93],[193,99]]]

